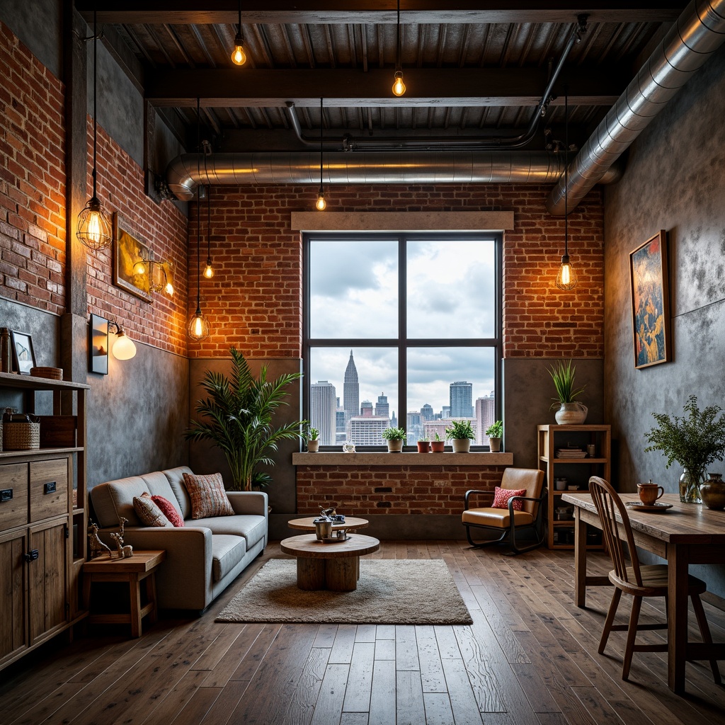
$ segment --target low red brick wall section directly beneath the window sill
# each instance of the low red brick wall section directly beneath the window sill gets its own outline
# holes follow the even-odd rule
[[[504,466],[297,466],[297,513],[460,514],[468,489],[493,491]]]

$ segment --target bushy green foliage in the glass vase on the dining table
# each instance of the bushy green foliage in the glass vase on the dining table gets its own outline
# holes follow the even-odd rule
[[[652,414],[659,427],[645,433],[650,443],[645,451],[662,451],[667,456],[665,468],[677,461],[695,481],[700,481],[708,465],[725,456],[725,417],[716,420],[722,410],[719,405],[708,405],[700,411],[695,395],[687,399],[682,410],[687,413],[682,418],[666,413]]]

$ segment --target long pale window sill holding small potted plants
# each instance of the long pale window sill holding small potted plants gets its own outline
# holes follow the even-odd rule
[[[293,453],[292,465],[475,465],[480,467],[513,465],[513,453]]]

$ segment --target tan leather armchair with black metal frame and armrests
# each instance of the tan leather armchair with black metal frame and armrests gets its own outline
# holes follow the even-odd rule
[[[461,523],[465,526],[465,535],[472,547],[481,548],[500,544],[508,537],[511,549],[516,554],[521,554],[531,549],[536,549],[544,542],[542,530],[542,502],[546,497],[546,489],[542,490],[544,483],[544,471],[537,471],[532,468],[506,468],[501,479],[501,488],[508,490],[526,489],[523,496],[514,496],[508,500],[508,508],[492,508],[494,492],[492,491],[471,491],[465,492],[465,506],[461,515]],[[487,498],[488,505],[483,508],[471,508],[471,497]],[[522,501],[521,511],[513,509],[514,501]],[[497,539],[487,539],[481,542],[474,542],[471,538],[471,527],[474,529],[488,529],[500,536]],[[534,544],[519,547],[516,544],[516,532],[522,529],[533,529],[536,537]]]

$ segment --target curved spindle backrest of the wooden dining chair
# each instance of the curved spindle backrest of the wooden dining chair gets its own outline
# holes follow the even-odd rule
[[[609,481],[600,479],[599,476],[592,476],[589,479],[589,493],[592,494],[592,500],[597,508],[599,520],[602,523],[604,543],[612,558],[616,575],[623,581],[627,581],[630,584],[637,584],[637,587],[642,587],[642,575],[639,572],[637,547],[634,545],[634,537],[632,536],[632,529],[629,525],[629,514],[624,503]],[[617,514],[619,514],[619,521],[617,520]],[[634,571],[634,581],[631,581],[631,577],[627,571],[627,561],[624,556],[624,546],[622,544],[623,540],[626,541],[627,547],[629,548],[629,558],[631,559],[631,571]]]

